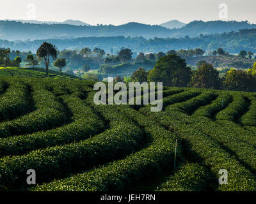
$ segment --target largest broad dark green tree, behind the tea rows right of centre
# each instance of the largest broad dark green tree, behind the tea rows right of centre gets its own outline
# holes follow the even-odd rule
[[[185,59],[177,55],[161,57],[148,73],[148,82],[163,82],[164,86],[186,87],[190,81],[191,69]]]

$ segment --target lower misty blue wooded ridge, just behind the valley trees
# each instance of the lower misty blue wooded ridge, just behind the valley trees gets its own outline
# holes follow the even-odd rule
[[[256,29],[243,29],[241,31],[231,31],[223,34],[201,35],[194,38],[152,38],[145,39],[142,37],[131,38],[124,36],[115,37],[86,37],[74,39],[51,39],[51,40],[34,40],[34,41],[7,41],[0,40],[0,47],[9,47],[12,50],[36,52],[38,47],[47,41],[56,45],[58,50],[70,49],[76,50],[83,47],[95,47],[104,49],[106,53],[116,54],[120,48],[131,48],[132,52],[166,52],[168,50],[180,50],[191,48],[202,48],[207,50],[217,50],[219,47],[224,48],[227,52],[238,53],[241,50],[252,51],[256,53]]]

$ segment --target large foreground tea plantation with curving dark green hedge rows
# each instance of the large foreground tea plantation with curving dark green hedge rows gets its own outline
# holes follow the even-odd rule
[[[83,80],[1,77],[0,94],[2,191],[256,190],[255,93],[165,87],[162,112],[95,105]]]

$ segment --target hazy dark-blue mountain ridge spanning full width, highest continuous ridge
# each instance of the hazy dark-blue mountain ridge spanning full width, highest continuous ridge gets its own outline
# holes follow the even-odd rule
[[[74,23],[74,21],[68,21]],[[69,24],[31,24],[17,21],[0,21],[0,39],[3,40],[43,40],[72,39],[82,37],[143,37],[143,38],[182,38],[200,34],[227,33],[240,29],[253,29],[255,24],[247,21],[193,21],[179,29],[168,29],[160,25],[147,25],[130,22],[123,25],[77,26]]]

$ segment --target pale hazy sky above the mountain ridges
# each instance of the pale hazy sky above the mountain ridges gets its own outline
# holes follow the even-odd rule
[[[0,3],[0,20],[72,19],[91,25],[127,22],[155,25],[174,19],[184,23],[248,20],[256,24],[255,8],[255,0],[8,0]]]

